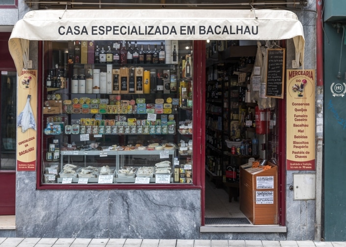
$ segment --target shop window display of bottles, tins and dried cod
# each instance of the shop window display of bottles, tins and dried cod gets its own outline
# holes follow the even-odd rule
[[[192,184],[192,41],[44,42],[44,54],[43,184]]]

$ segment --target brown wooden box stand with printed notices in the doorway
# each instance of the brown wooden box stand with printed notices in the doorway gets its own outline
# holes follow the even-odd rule
[[[240,211],[253,224],[278,223],[277,166],[260,173],[249,173],[240,166]]]

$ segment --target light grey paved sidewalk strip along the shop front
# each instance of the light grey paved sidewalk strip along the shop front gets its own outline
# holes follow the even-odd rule
[[[0,247],[346,247],[346,242],[181,239],[167,240],[0,238]]]

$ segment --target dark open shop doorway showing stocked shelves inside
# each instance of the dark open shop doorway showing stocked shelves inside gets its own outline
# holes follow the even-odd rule
[[[230,52],[233,48],[234,53]],[[278,164],[278,99],[261,111],[257,101],[247,99],[256,49],[256,42],[251,41],[211,41],[206,45],[206,225],[252,224],[253,219],[249,221],[240,206],[240,166],[250,158]],[[256,115],[265,118],[261,129],[256,129]],[[252,151],[239,153],[241,143]]]

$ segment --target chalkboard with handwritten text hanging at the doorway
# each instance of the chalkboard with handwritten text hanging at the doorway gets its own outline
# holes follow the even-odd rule
[[[266,97],[284,98],[285,49],[267,49]]]

